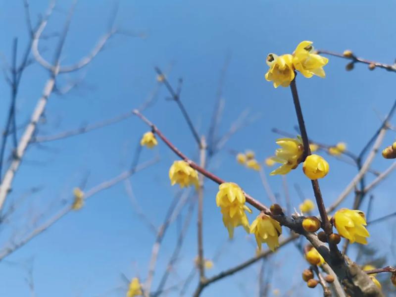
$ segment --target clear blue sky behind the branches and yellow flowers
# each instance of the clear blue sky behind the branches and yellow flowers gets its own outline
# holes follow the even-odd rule
[[[31,4],[32,18],[46,8],[46,1]],[[58,31],[71,1],[59,1],[47,34]],[[86,54],[105,32],[113,1],[81,0],[76,8],[70,33],[62,54],[65,64]],[[38,135],[50,135],[79,127],[84,123],[110,118],[137,107],[156,86],[154,66],[172,66],[168,75],[172,84],[184,80],[182,100],[200,134],[207,131],[216,99],[220,71],[227,56],[230,63],[223,88],[224,116],[220,133],[225,133],[246,108],[260,117],[238,132],[226,148],[253,149],[261,160],[276,148],[277,135],[271,128],[293,131],[297,124],[290,90],[274,89],[264,80],[265,57],[269,52],[292,52],[302,40],[311,40],[318,49],[342,52],[352,49],[358,56],[392,63],[395,60],[394,1],[135,1],[121,0],[116,23],[123,29],[145,32],[147,38],[114,37],[87,67],[78,73],[63,75],[59,85],[70,79],[84,78],[84,83],[67,96],[52,95],[46,110],[46,123]],[[22,1],[0,0],[0,53],[10,59],[12,39],[18,37],[20,49],[27,42]],[[51,57],[55,39],[42,42],[46,58]],[[21,52],[21,51],[20,51]],[[325,67],[326,79],[297,77],[297,87],[305,116],[308,135],[325,143],[347,142],[358,153],[380,124],[378,114],[385,115],[394,98],[394,73],[365,65],[345,71],[346,61],[330,57]],[[23,124],[39,98],[48,74],[40,66],[30,66],[22,78],[17,101],[18,123]],[[9,88],[0,83],[0,123],[5,122]],[[174,102],[165,100],[164,88],[156,104],[145,114],[186,154],[197,155],[194,139]],[[147,127],[130,118],[121,123],[76,136],[32,146],[26,154],[9,199],[17,199],[34,186],[43,190],[32,195],[15,213],[15,222],[1,229],[4,244],[14,229],[23,231],[24,222],[40,211],[52,213],[62,198],[69,198],[72,189],[80,185],[90,172],[87,188],[107,180],[128,168],[137,141]],[[19,131],[19,135],[21,130]],[[385,143],[394,140],[389,132]],[[156,165],[132,177],[131,182],[140,205],[148,217],[160,224],[165,209],[177,192],[168,180],[168,168],[175,155],[162,143],[154,151],[145,150],[142,161],[151,159],[156,150],[161,159]],[[320,181],[326,203],[343,191],[356,169],[336,159],[328,158],[331,171]],[[384,170],[390,162],[380,157],[375,168]],[[210,167],[225,180],[240,184],[249,194],[266,204],[269,200],[255,172],[239,166],[232,155],[223,151],[216,155]],[[268,172],[268,169],[267,169]],[[372,178],[372,177],[370,177]],[[394,175],[376,189],[372,217],[394,211]],[[293,190],[298,183],[307,197],[312,197],[310,182],[295,170],[287,176],[293,206],[299,200]],[[269,178],[275,192],[281,194],[281,179]],[[207,257],[227,240],[221,215],[214,197],[217,186],[206,181],[204,203],[204,250]],[[343,204],[350,206],[352,197]],[[366,204],[363,203],[363,210]],[[31,210],[30,212],[28,212]],[[253,215],[249,217],[254,219]],[[384,226],[392,230],[394,220],[382,226],[370,227],[370,242],[388,254],[389,264],[395,262],[390,253],[391,236],[382,236]],[[286,234],[286,230],[284,230]],[[179,278],[191,269],[196,255],[195,217],[178,264]],[[177,224],[170,227],[158,259],[158,275],[165,268],[177,235]],[[220,272],[254,254],[254,245],[243,230],[237,230],[235,240],[222,251],[215,268]],[[34,284],[37,296],[124,296],[128,278],[145,277],[154,238],[136,215],[126,195],[124,185],[99,193],[85,207],[70,213],[48,231],[32,240],[0,263],[0,295],[29,296],[26,271],[20,265],[34,257]],[[353,257],[354,248],[350,249]],[[321,295],[319,289],[300,286],[300,272],[306,267],[293,245],[282,248],[267,263],[273,273],[272,289],[281,293],[297,285],[301,294]],[[274,272],[275,270],[275,272]],[[209,286],[202,296],[246,296],[257,294],[254,265],[227,280]],[[172,277],[169,285],[177,282]],[[194,289],[197,280],[191,286]],[[122,287],[123,290],[115,290]],[[247,290],[248,293],[246,293]],[[189,291],[191,294],[192,291]],[[189,296],[187,294],[187,296]],[[170,296],[177,296],[170,295]],[[250,296],[250,295],[249,295]]]

